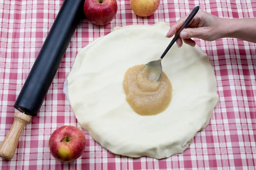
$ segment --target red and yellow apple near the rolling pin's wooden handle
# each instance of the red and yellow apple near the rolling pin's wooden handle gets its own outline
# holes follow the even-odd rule
[[[63,139],[62,142],[61,139]],[[78,159],[84,152],[85,145],[83,131],[70,125],[59,127],[49,138],[50,153],[61,162],[71,162]]]

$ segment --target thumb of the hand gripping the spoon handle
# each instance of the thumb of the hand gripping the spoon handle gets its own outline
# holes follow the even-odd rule
[[[205,33],[205,29],[200,28],[186,28],[183,31],[180,32],[180,38],[200,38],[205,39],[207,38],[207,34]]]

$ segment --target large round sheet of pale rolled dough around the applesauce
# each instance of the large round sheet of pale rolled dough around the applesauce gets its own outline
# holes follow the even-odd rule
[[[112,153],[162,159],[182,153],[209,123],[218,101],[208,56],[173,45],[163,58],[172,100],[160,114],[141,116],[125,100],[125,71],[159,59],[169,45],[166,23],[114,28],[82,48],[67,77],[70,105],[81,127]]]

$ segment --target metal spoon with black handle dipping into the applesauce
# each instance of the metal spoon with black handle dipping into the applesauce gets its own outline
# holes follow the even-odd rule
[[[193,19],[193,17],[195,17],[195,14],[198,12],[198,10],[199,10],[199,6],[196,6],[191,11],[191,13],[189,14],[187,19],[185,20],[185,22],[181,26],[180,30],[178,31],[177,35],[172,39],[172,41],[170,42],[170,44],[168,45],[166,50],[163,52],[163,54],[160,57],[160,59],[153,60],[151,62],[148,62],[146,65],[144,65],[144,67],[142,68],[141,71],[142,71],[142,73],[148,73],[147,75],[148,75],[148,79],[150,81],[157,82],[160,79],[160,77],[162,75],[162,64],[161,64],[161,61],[162,61],[163,57],[166,55],[166,53],[169,51],[169,49],[175,43],[177,38],[180,36],[180,32],[184,28],[186,28],[189,25],[190,21]]]

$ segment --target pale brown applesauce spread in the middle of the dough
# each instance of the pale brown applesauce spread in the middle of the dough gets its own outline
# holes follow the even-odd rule
[[[125,72],[123,88],[126,101],[140,115],[155,115],[169,106],[172,84],[164,72],[157,82],[148,80],[149,72],[142,72],[143,66],[135,65]]]

